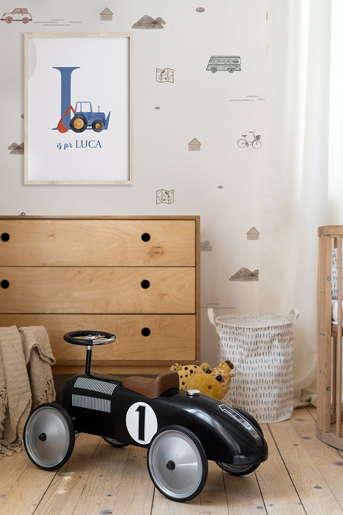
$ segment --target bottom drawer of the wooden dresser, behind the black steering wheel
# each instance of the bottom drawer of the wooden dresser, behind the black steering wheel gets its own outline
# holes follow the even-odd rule
[[[56,366],[84,366],[85,348],[68,344],[63,335],[87,329],[116,335],[113,344],[94,348],[94,365],[159,361],[171,366],[178,361],[196,359],[195,315],[0,315],[0,324],[15,324],[18,328],[43,325],[49,334]]]

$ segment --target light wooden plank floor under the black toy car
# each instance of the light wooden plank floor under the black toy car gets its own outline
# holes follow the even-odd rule
[[[80,434],[64,467],[45,472],[25,452],[0,459],[0,515],[334,515],[343,512],[343,451],[316,437],[316,410],[263,424],[269,458],[231,476],[209,462],[202,493],[169,501],[153,486],[146,449]]]

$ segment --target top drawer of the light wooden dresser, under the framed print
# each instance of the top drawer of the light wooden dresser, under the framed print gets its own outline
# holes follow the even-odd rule
[[[0,219],[2,266],[195,266],[195,221]]]

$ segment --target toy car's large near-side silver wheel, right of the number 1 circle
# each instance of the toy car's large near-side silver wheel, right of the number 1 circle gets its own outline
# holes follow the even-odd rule
[[[204,448],[185,427],[171,425],[158,431],[150,443],[147,464],[156,488],[172,501],[194,499],[206,483]]]

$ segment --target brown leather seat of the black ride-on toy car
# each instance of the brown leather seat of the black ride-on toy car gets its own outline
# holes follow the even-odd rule
[[[122,385],[129,390],[141,393],[141,395],[149,399],[157,399],[166,390],[171,388],[179,389],[179,377],[177,372],[159,374],[153,379],[134,375],[132,377],[125,377]]]

